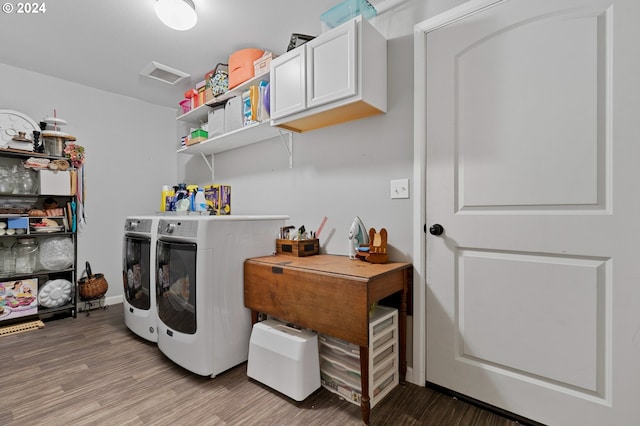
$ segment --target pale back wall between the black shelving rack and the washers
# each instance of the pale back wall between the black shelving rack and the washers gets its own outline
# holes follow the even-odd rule
[[[176,181],[175,111],[0,64],[0,108],[36,122],[53,115],[86,149],[86,225],[79,227],[78,272],[85,261],[105,274],[107,296],[122,295],[122,236],[128,215],[157,211],[160,188]]]

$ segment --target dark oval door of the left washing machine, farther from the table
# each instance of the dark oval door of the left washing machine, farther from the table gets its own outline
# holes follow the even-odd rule
[[[125,235],[122,248],[124,296],[134,308],[151,308],[151,239]]]

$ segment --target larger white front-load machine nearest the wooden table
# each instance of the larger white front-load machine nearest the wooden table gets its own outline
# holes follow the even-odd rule
[[[189,371],[211,377],[247,360],[251,318],[244,306],[244,260],[273,253],[287,219],[160,219],[156,300],[162,353]]]

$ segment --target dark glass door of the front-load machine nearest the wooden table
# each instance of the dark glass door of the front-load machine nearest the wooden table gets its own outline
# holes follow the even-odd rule
[[[196,332],[195,243],[158,240],[156,289],[158,318],[169,328]]]

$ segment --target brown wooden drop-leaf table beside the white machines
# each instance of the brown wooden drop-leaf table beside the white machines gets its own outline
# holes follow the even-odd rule
[[[407,371],[407,293],[410,263],[371,264],[346,256],[265,256],[244,263],[244,304],[258,313],[338,337],[360,347],[362,421],[369,424],[369,309],[400,294],[399,377]]]

